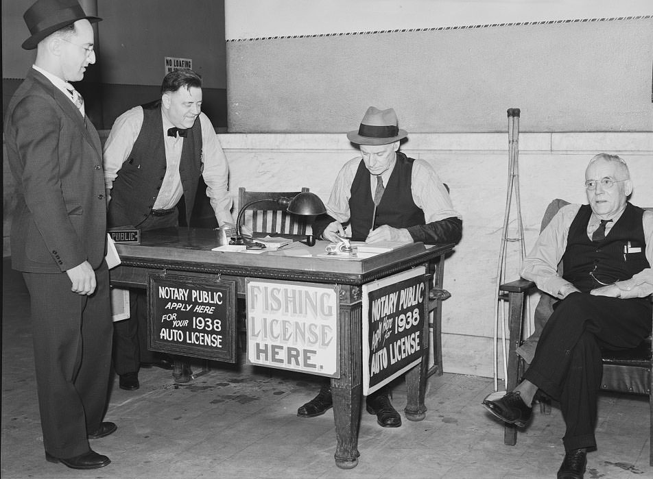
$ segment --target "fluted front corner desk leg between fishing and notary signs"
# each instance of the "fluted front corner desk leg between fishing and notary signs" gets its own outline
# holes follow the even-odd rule
[[[335,465],[358,465],[358,429],[361,413],[361,289],[340,286],[340,379],[331,380],[335,419]]]

